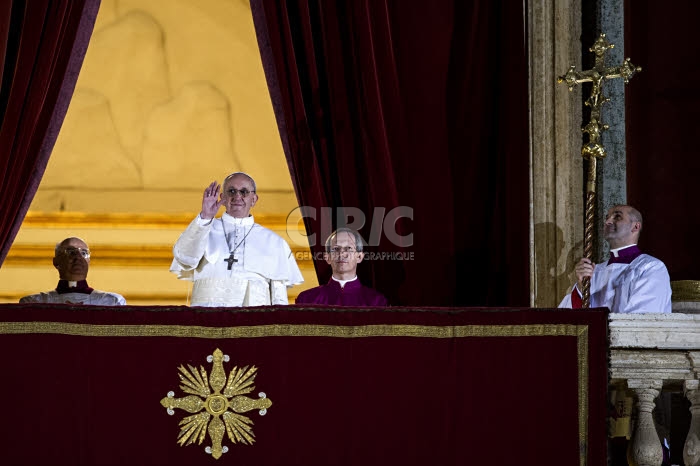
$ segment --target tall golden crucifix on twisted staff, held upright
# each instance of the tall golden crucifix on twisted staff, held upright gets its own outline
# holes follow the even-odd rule
[[[613,47],[615,46],[608,42],[605,38],[605,34],[601,34],[593,44],[593,47],[589,49],[591,52],[595,53],[595,66],[593,66],[593,69],[576,71],[576,67],[572,65],[569,67],[569,71],[558,79],[560,83],[566,81],[566,84],[569,86],[569,91],[573,90],[574,86],[577,84],[585,82],[593,83],[591,95],[588,100],[586,100],[586,105],[591,107],[591,121],[582,128],[583,132],[588,134],[588,142],[584,142],[581,147],[581,155],[584,160],[588,160],[583,255],[591,261],[593,260],[593,243],[595,241],[594,214],[596,206],[597,160],[604,158],[606,155],[605,148],[600,140],[600,135],[609,128],[608,125],[602,123],[600,118],[600,111],[603,104],[610,101],[609,98],[603,95],[603,83],[606,79],[622,78],[625,84],[627,84],[635,73],[642,71],[642,68],[634,66],[629,58],[625,59],[620,66],[606,67],[605,53]],[[585,279],[582,290],[582,306],[584,308],[588,308],[590,304],[590,291],[590,280]]]

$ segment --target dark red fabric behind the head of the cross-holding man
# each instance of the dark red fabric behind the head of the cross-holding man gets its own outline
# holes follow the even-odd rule
[[[642,66],[626,86],[627,191],[644,215],[640,245],[671,280],[698,280],[700,3],[625,2],[625,56]]]

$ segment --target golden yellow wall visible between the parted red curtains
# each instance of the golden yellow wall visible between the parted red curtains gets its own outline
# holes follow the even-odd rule
[[[79,236],[91,286],[130,304],[186,304],[172,245],[204,187],[245,171],[253,213],[290,242],[297,201],[247,0],[102,0],[63,128],[0,269],[0,302],[55,287],[53,247]],[[291,222],[296,229],[297,222]],[[313,265],[300,261],[306,283]]]

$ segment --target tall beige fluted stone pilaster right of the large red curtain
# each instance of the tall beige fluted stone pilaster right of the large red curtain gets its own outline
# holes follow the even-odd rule
[[[581,66],[581,0],[532,0],[530,66],[530,305],[554,307],[583,253],[581,86],[557,77]]]

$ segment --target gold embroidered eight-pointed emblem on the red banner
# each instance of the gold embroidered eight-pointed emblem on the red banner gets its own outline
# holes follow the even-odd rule
[[[175,393],[171,391],[160,400],[160,404],[170,415],[175,414],[173,408],[196,413],[180,421],[177,443],[180,446],[194,442],[201,445],[208,432],[211,447],[206,447],[205,451],[216,459],[228,451],[228,447],[221,445],[224,432],[234,444],[252,445],[255,442],[255,434],[251,427],[253,421],[241,413],[257,409],[258,413],[264,416],[267,408],[272,406],[272,401],[264,392],[258,394],[258,399],[243,396],[255,390],[253,382],[258,370],[255,366],[245,366],[241,369],[234,367],[226,381],[224,361],[228,362],[229,357],[218,348],[213,355],[207,356],[207,362],[212,363],[209,377],[202,366],[197,370],[189,364],[187,369],[181,365],[178,368],[180,389],[190,396],[175,398]]]

